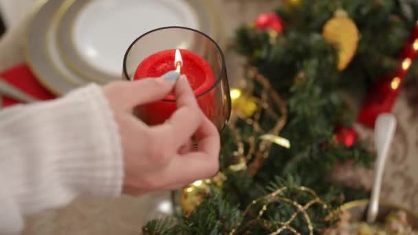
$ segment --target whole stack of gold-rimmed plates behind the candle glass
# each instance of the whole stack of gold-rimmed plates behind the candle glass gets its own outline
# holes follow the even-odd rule
[[[60,96],[120,80],[126,49],[155,28],[191,27],[221,40],[215,15],[210,0],[41,0],[25,36],[26,60]]]

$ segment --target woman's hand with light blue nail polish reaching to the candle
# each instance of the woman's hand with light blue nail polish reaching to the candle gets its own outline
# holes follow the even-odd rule
[[[173,190],[219,170],[217,128],[199,109],[186,76],[176,81],[178,74],[170,75],[104,87],[122,140],[127,194]],[[177,110],[164,124],[148,126],[132,115],[137,105],[162,100],[173,89]]]

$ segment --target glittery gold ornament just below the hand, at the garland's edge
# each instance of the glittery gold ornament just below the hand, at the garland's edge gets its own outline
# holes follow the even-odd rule
[[[186,214],[190,213],[197,208],[203,201],[203,198],[210,194],[210,186],[221,187],[226,177],[222,172],[211,179],[202,179],[191,183],[188,187],[181,191],[181,209]]]

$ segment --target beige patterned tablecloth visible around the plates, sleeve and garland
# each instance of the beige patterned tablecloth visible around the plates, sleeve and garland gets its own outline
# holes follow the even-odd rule
[[[272,10],[273,0],[213,0],[225,27],[225,36],[232,36],[234,29],[247,23],[262,12]],[[26,17],[10,27],[0,39],[0,71],[23,62],[21,37]],[[229,77],[241,73],[242,60],[227,54]],[[393,113],[398,118],[398,128],[391,155],[384,175],[382,199],[393,201],[418,211],[418,87],[409,87],[397,100]],[[413,92],[415,91],[415,92]],[[362,139],[372,142],[373,133],[356,126]],[[361,174],[360,174],[361,173]],[[366,183],[371,182],[373,172],[352,172]],[[48,210],[28,219],[23,234],[139,234],[148,208],[155,202],[155,195],[141,198],[122,196],[118,199],[79,198],[65,208]]]

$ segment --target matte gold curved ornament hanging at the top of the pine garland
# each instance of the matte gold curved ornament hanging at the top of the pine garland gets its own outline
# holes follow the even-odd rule
[[[338,70],[344,70],[353,59],[360,34],[355,23],[344,10],[337,10],[322,30],[322,36],[338,47]]]

